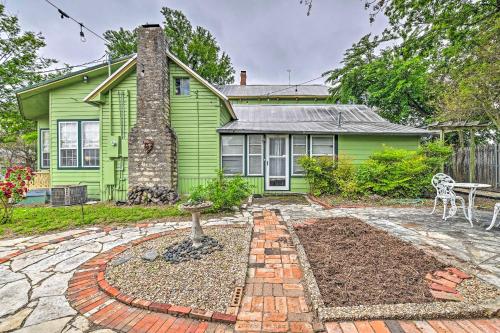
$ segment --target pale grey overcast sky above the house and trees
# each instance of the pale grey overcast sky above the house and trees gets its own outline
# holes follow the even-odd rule
[[[25,30],[41,32],[42,54],[62,63],[81,64],[99,58],[105,47],[79,26],[60,19],[44,0],[0,0]],[[310,16],[299,0],[51,0],[98,33],[162,23],[162,6],[182,10],[193,26],[210,30],[231,57],[236,70],[247,70],[248,84],[292,83],[316,78],[339,66],[344,51],[367,33],[379,33],[385,18],[370,24],[362,0],[314,0]],[[314,83],[322,83],[317,80]]]

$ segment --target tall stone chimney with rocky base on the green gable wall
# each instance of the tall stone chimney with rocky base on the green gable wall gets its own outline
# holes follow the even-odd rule
[[[170,127],[167,42],[158,24],[139,28],[137,42],[137,121],[128,137],[129,201],[177,191],[176,136]],[[132,195],[134,193],[135,195]],[[132,195],[132,196],[131,196]],[[148,199],[148,198],[143,198]],[[151,199],[151,198],[149,198]],[[139,202],[141,201],[141,202]],[[166,203],[169,200],[153,200]]]

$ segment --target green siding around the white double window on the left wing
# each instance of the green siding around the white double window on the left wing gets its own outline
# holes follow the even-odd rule
[[[99,169],[61,169],[58,167],[57,124],[61,120],[100,119],[99,108],[84,103],[83,98],[104,78],[105,76],[100,76],[88,83],[82,81],[54,89],[50,92],[49,101],[51,186],[87,185],[88,196],[95,199],[100,198],[101,191]]]

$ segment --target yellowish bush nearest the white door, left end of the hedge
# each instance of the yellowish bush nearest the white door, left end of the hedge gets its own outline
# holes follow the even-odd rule
[[[312,194],[341,194],[346,197],[358,194],[356,169],[349,158],[303,156],[299,159],[299,164],[305,171]]]

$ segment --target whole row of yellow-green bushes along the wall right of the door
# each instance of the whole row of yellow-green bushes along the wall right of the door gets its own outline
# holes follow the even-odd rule
[[[299,163],[305,169],[314,195],[378,194],[415,198],[430,190],[432,176],[439,172],[451,153],[450,147],[431,142],[416,151],[385,147],[357,169],[345,156],[337,160],[303,157]]]

